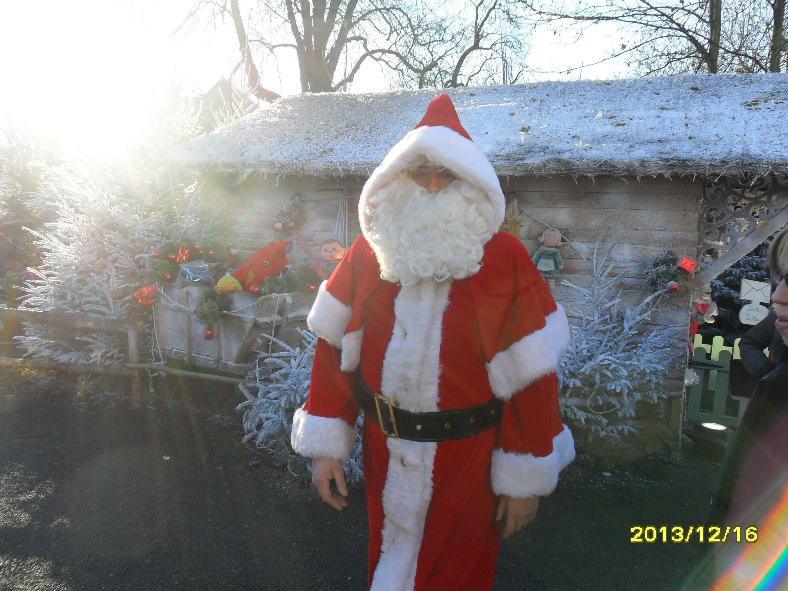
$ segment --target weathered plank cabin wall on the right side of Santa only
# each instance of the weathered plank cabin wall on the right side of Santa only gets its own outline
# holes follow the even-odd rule
[[[623,273],[615,288],[623,288],[622,303],[626,306],[636,306],[651,293],[641,283],[645,278],[642,262],[650,255],[671,250],[679,258],[682,255],[695,258],[702,194],[700,179],[516,177],[504,180],[503,186],[507,196],[516,197],[523,212],[520,239],[532,255],[540,246],[537,239],[545,229],[540,221],[566,230],[571,244],[560,247],[564,268],[552,292],[567,311],[571,324],[580,318],[583,297],[574,288],[561,285],[560,281],[571,281],[580,288],[591,286],[591,273],[580,253],[591,264],[594,243],[604,230],[609,229],[604,240],[617,242],[611,253],[616,262],[611,277]],[[641,433],[670,440],[674,449],[678,443],[685,392],[691,306],[688,279],[678,280],[681,286],[678,292],[663,296],[652,317],[653,322],[646,325],[646,330],[658,325],[679,326],[671,342],[675,354],[667,368],[671,399],[654,409],[656,418],[660,419],[657,424],[641,430]],[[610,295],[614,295],[612,290]],[[652,423],[648,416],[641,417],[642,425]]]

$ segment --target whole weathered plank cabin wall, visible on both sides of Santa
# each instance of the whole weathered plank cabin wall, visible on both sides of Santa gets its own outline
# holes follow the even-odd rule
[[[335,236],[336,214],[340,199],[349,198],[349,242],[360,235],[358,197],[364,179],[344,177],[250,177],[226,191],[230,221],[237,236],[236,245],[242,254],[251,255],[270,240],[282,240],[271,227],[273,216],[293,195],[300,195],[307,206],[306,223],[292,236],[299,248],[290,256],[293,262],[310,260],[316,245]],[[566,230],[572,245],[564,244],[561,255],[564,269],[553,290],[570,323],[578,322],[582,296],[573,288],[560,285],[567,280],[588,288],[591,274],[582,261],[582,252],[589,262],[594,243],[609,228],[608,240],[617,241],[612,251],[616,265],[612,274],[624,273],[622,281],[623,305],[635,306],[649,295],[640,281],[645,277],[644,265],[649,255],[668,249],[679,257],[694,257],[697,245],[698,211],[702,193],[701,180],[668,180],[644,178],[620,179],[597,177],[594,180],[570,177],[502,179],[507,197],[515,197],[525,213],[521,220],[521,240],[531,255],[539,247],[537,238],[548,225]],[[537,221],[538,220],[538,221]],[[577,250],[575,250],[577,249]],[[671,343],[675,359],[668,368],[668,390],[671,400],[641,417],[643,425],[656,425],[643,433],[651,433],[671,441],[675,449],[678,426],[681,423],[684,395],[686,343],[689,331],[690,296],[688,283],[679,292],[664,296],[653,322],[647,325],[679,325],[675,341]],[[612,294],[611,294],[612,295]]]

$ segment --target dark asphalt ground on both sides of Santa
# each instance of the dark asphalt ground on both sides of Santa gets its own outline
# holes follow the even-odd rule
[[[363,490],[339,513],[242,446],[243,400],[172,381],[134,410],[122,380],[0,374],[0,589],[366,589]],[[503,541],[496,591],[700,589],[708,548],[630,528],[701,525],[716,470],[576,461]]]

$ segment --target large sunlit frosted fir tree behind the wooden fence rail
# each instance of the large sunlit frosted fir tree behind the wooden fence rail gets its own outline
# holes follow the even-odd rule
[[[152,253],[165,241],[221,236],[193,175],[162,164],[177,142],[201,133],[198,110],[170,96],[154,113],[131,163],[73,156],[44,169],[38,195],[28,201],[51,221],[33,232],[42,264],[25,284],[20,306],[150,321],[134,293],[156,277]],[[151,329],[143,327],[143,350]],[[35,358],[127,362],[125,336],[113,333],[25,325],[17,341]]]

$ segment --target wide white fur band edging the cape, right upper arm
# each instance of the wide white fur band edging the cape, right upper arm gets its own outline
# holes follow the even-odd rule
[[[569,322],[561,304],[545,318],[545,328],[523,336],[500,351],[487,364],[490,388],[500,400],[509,400],[515,393],[540,377],[552,374],[559,359],[569,347]]]

